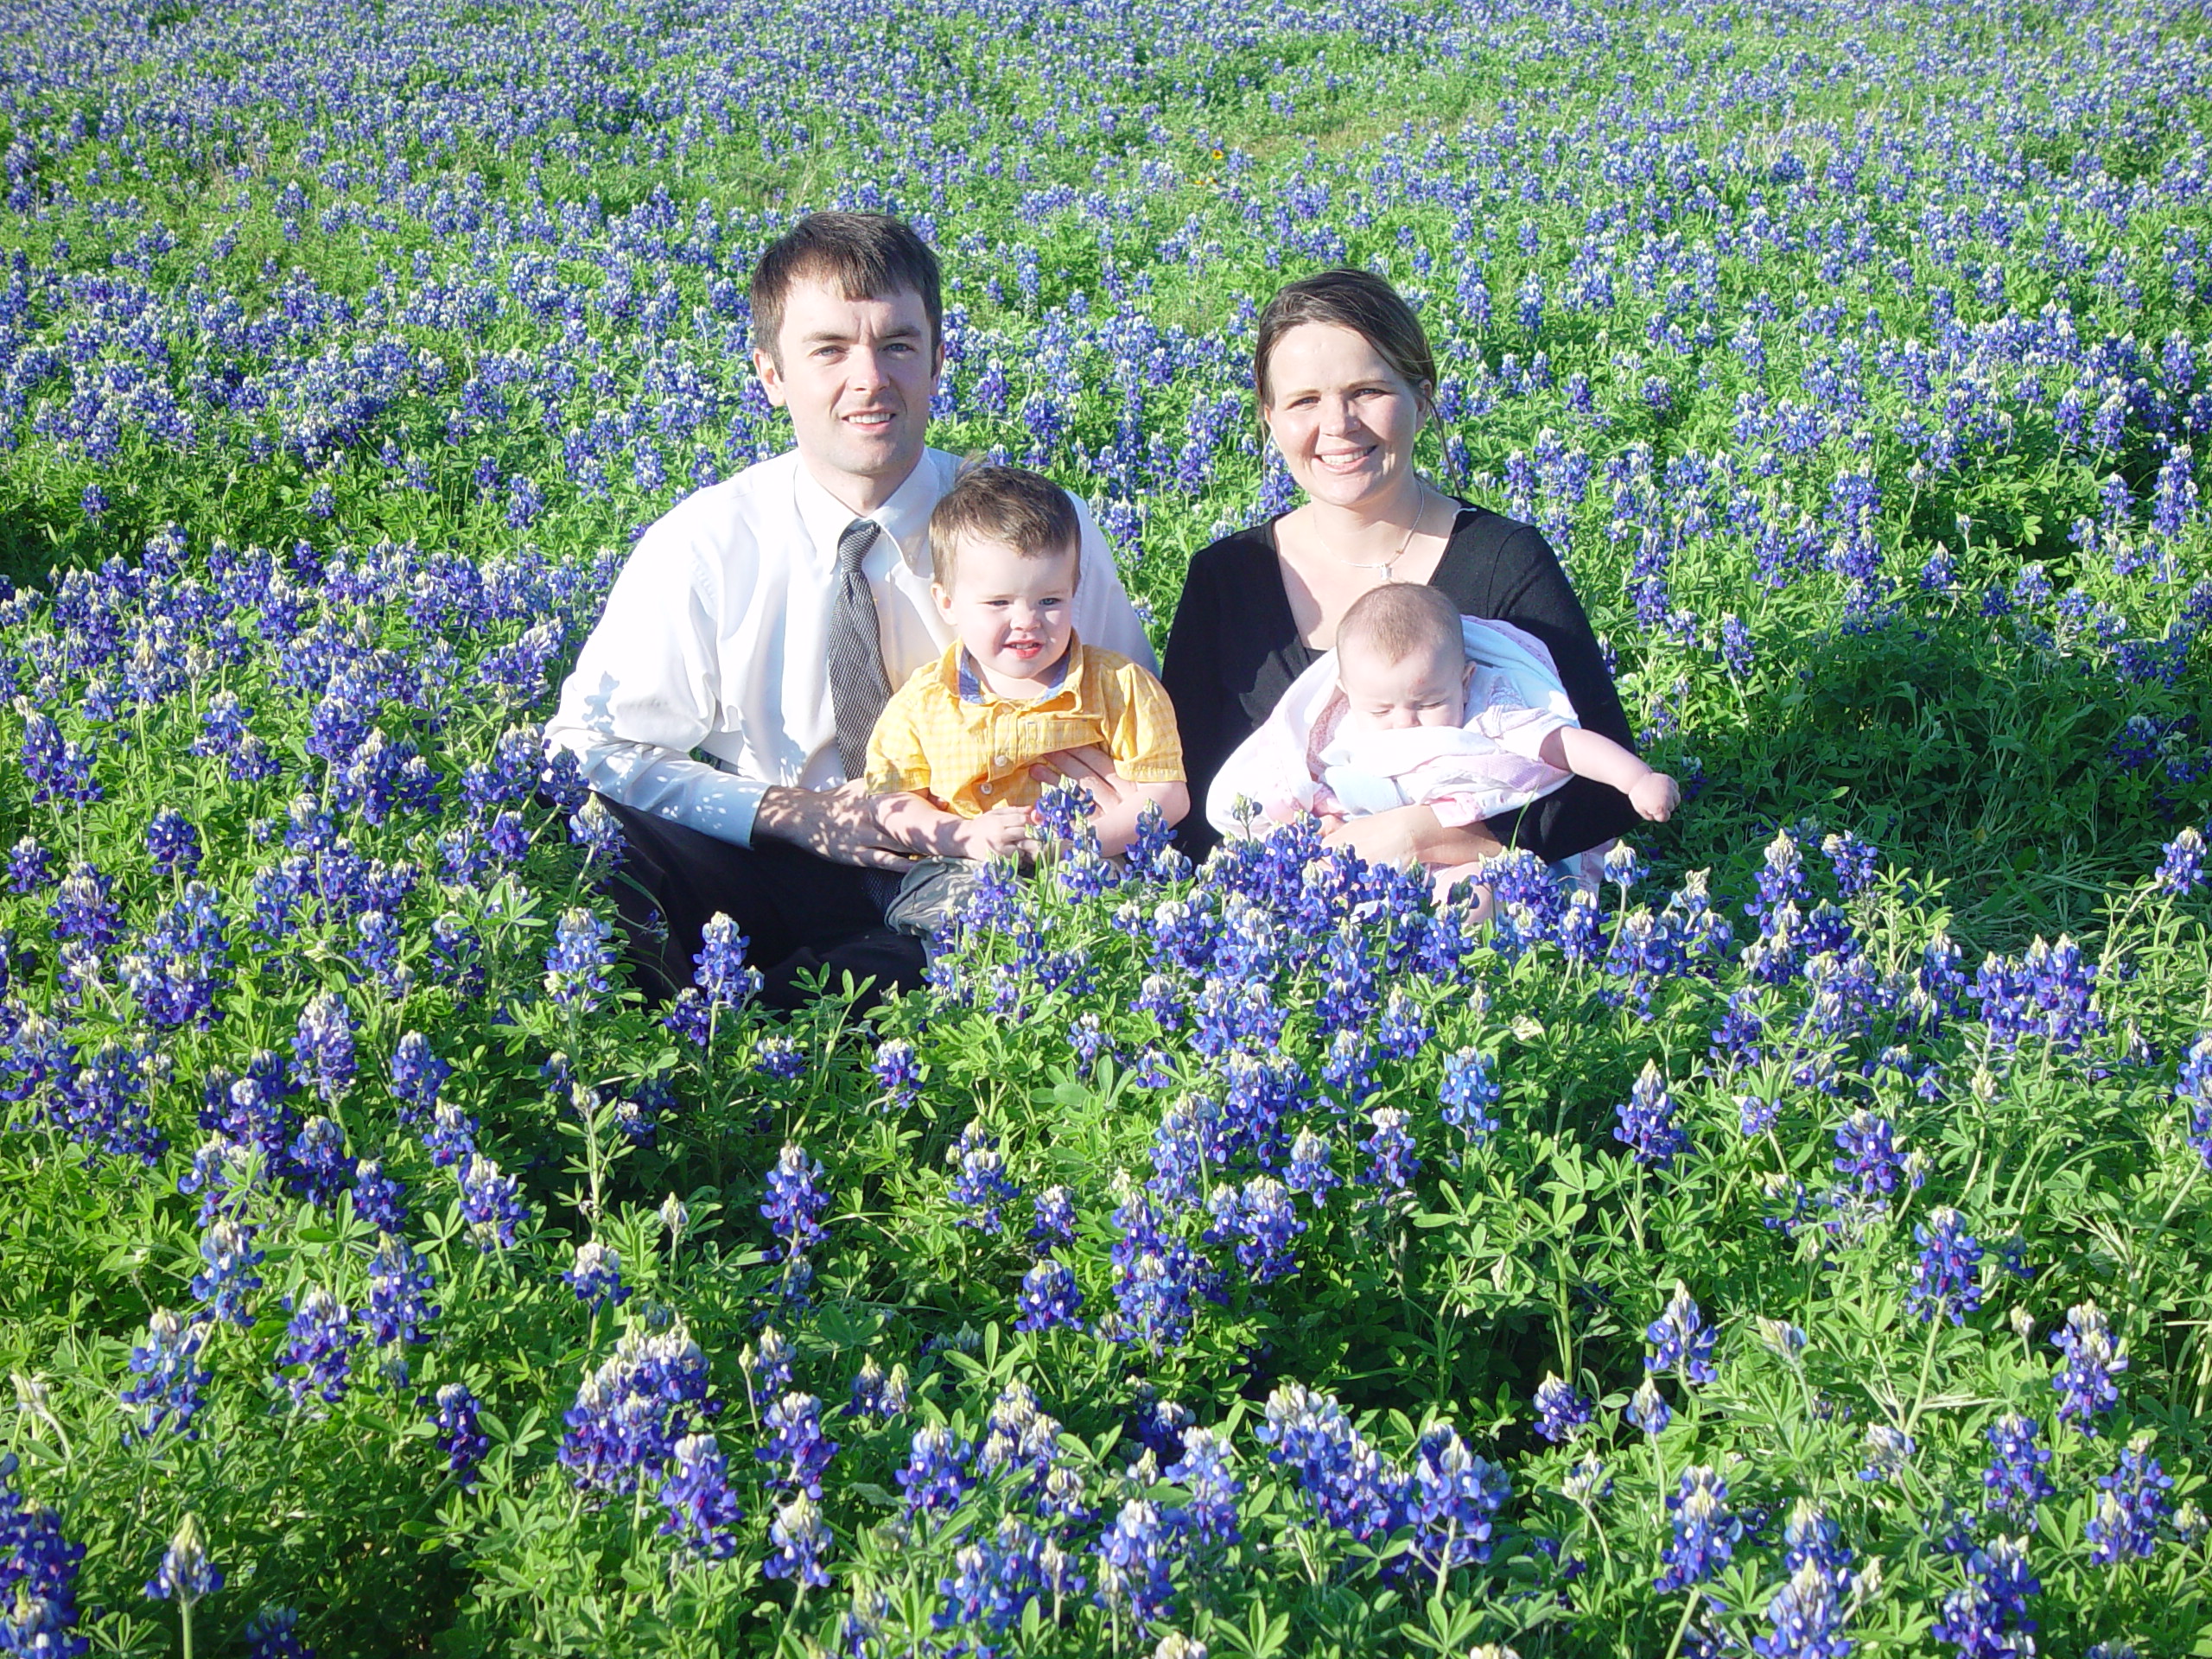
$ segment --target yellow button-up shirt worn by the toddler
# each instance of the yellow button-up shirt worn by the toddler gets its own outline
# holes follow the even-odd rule
[[[1168,692],[1128,657],[1075,639],[1060,686],[1029,701],[998,697],[980,677],[962,697],[960,681],[953,641],[891,692],[867,741],[869,794],[911,790],[962,818],[1026,807],[1042,787],[1029,768],[1077,748],[1106,750],[1130,783],[1183,781]]]

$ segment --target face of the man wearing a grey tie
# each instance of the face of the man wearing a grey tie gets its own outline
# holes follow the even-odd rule
[[[776,349],[754,352],[752,365],[768,400],[792,411],[801,460],[847,507],[880,507],[922,458],[945,356],[914,290],[845,299],[801,276]]]

